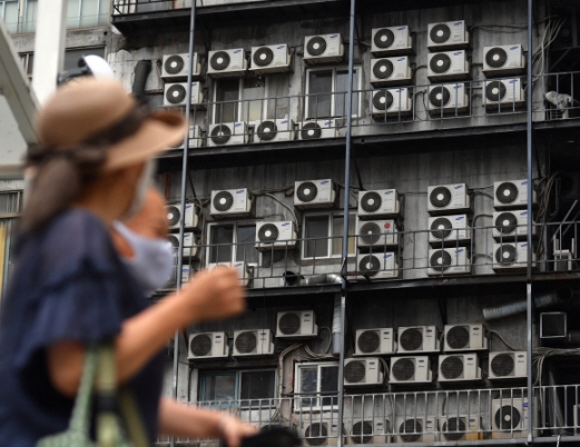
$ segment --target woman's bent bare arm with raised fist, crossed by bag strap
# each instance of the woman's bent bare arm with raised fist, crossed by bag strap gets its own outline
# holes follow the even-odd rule
[[[119,381],[132,377],[173,337],[176,330],[244,310],[244,289],[234,269],[218,267],[198,272],[181,290],[125,320],[116,340]],[[82,369],[83,346],[63,340],[47,349],[48,369],[55,387],[75,396]]]

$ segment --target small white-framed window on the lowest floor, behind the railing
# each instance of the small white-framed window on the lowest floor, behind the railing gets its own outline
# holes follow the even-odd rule
[[[338,364],[298,364],[295,377],[294,394],[296,409],[331,409],[336,408],[338,398]],[[308,395],[316,397],[309,398]]]

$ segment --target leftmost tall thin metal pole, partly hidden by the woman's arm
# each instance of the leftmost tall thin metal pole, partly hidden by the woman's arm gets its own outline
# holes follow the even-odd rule
[[[195,42],[195,13],[196,13],[196,0],[191,0],[191,16],[189,18],[189,60],[187,67],[187,100],[185,102],[185,121],[187,122],[187,130],[184,137],[184,156],[181,159],[181,191],[179,203],[181,211],[185,211],[185,195],[187,189],[187,156],[189,152],[189,116],[191,113],[191,78],[194,70],[194,42]],[[185,219],[179,222],[179,246],[177,250],[177,290],[181,288],[181,269],[183,269],[183,255],[184,255],[184,226]],[[171,393],[174,399],[177,400],[177,378],[178,378],[178,366],[179,366],[179,331],[175,332],[174,336],[174,380],[171,384]],[[171,436],[170,446],[175,447],[175,438]]]

